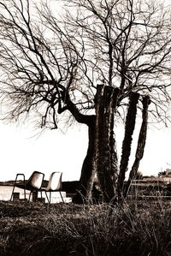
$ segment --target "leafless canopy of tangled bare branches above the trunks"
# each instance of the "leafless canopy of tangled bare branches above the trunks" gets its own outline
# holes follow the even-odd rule
[[[57,127],[69,110],[93,113],[97,84],[150,95],[151,113],[168,118],[170,15],[160,1],[0,2],[0,66],[9,117],[34,111]],[[71,107],[72,105],[72,107]],[[117,110],[121,114],[120,110]],[[41,117],[40,117],[41,116]],[[123,117],[123,116],[122,116]]]

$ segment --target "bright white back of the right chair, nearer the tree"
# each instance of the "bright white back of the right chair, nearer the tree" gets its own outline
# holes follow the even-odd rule
[[[62,189],[62,172],[52,172],[48,182],[47,191],[57,191]]]

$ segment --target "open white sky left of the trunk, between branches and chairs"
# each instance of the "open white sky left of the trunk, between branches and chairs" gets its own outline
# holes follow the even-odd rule
[[[62,180],[79,180],[85,157],[86,133],[84,128],[40,131],[0,123],[0,181],[15,179],[16,173],[38,170],[49,179],[52,171],[62,171]],[[34,135],[34,136],[33,136]],[[33,136],[33,137],[32,137]]]

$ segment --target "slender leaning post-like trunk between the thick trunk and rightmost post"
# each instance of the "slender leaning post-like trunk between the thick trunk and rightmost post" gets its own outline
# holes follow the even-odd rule
[[[117,193],[118,193],[119,202],[122,201],[122,198],[123,198],[123,194],[122,194],[123,185],[124,185],[127,165],[128,165],[128,161],[131,153],[131,145],[133,140],[132,136],[133,136],[133,130],[135,128],[138,101],[139,101],[139,94],[136,92],[132,92],[130,95],[129,106],[127,110],[125,136],[122,143],[120,173],[119,173],[118,182],[117,182]]]

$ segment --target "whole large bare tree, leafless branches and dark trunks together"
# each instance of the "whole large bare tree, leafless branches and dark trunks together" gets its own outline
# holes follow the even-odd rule
[[[42,128],[58,128],[65,116],[85,124],[89,145],[80,191],[91,197],[97,173],[103,199],[109,201],[123,192],[134,129],[127,125],[130,113],[135,122],[136,110],[144,109],[148,95],[150,116],[162,122],[169,118],[170,11],[160,1],[65,0],[65,14],[60,9],[60,16],[59,3],[0,1],[6,118],[30,114]],[[119,118],[126,121],[120,168],[113,130]],[[146,131],[134,175],[145,139]]]

